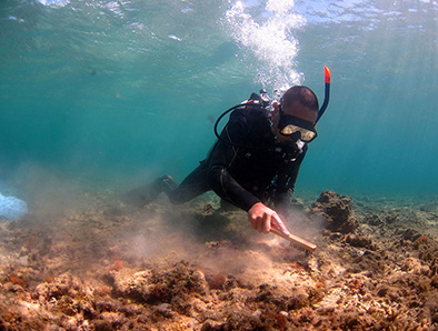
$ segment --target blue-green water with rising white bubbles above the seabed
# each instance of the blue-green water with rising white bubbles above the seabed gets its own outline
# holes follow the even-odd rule
[[[438,193],[437,37],[426,0],[1,0],[0,181],[181,180],[223,110],[297,83],[322,102],[328,66],[297,191]]]

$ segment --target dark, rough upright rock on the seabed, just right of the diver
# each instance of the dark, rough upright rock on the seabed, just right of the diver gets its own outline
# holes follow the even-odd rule
[[[350,233],[359,227],[352,210],[352,199],[334,191],[323,191],[312,203],[312,213],[325,220],[323,227],[332,232]]]

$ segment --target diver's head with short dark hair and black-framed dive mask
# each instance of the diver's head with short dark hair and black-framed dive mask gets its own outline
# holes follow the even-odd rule
[[[318,98],[307,87],[295,86],[273,104],[273,131],[282,144],[310,142],[317,137]]]

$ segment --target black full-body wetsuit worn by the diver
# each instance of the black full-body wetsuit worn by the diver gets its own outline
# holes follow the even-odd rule
[[[180,185],[165,185],[172,203],[209,190],[246,211],[260,201],[276,209],[289,203],[307,144],[299,153],[285,153],[269,111],[260,106],[235,110],[220,138]]]

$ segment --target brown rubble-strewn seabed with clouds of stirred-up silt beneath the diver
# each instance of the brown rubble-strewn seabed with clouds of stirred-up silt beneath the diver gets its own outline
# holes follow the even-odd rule
[[[347,233],[298,203],[312,255],[208,194],[41,203],[0,222],[0,330],[438,330],[438,203],[354,201]]]

